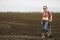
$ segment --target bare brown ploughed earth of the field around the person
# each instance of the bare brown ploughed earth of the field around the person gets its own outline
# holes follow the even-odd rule
[[[60,14],[53,14],[51,23],[52,33],[55,40],[60,40]],[[0,13],[0,40],[40,40],[41,37],[41,14],[40,13]],[[27,36],[20,37],[2,37],[2,36]]]

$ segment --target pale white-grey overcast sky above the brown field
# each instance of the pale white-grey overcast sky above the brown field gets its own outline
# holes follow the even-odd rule
[[[60,0],[0,0],[0,11],[41,12],[44,5],[60,12]]]

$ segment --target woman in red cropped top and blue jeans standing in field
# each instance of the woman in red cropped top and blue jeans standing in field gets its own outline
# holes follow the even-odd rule
[[[42,38],[45,38],[45,33],[50,36],[49,33],[49,22],[52,21],[52,14],[47,10],[47,6],[43,6],[43,13],[42,13]]]

